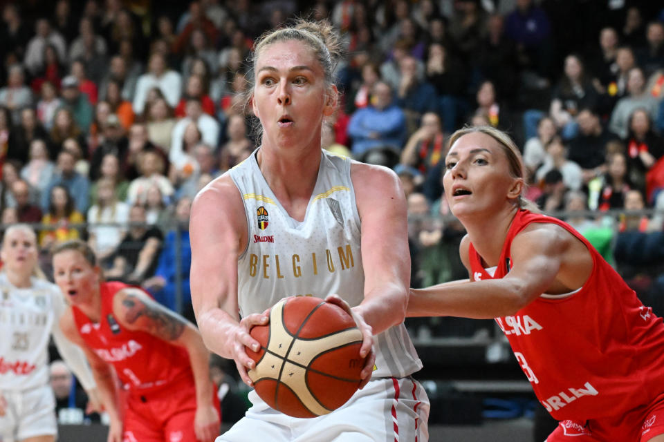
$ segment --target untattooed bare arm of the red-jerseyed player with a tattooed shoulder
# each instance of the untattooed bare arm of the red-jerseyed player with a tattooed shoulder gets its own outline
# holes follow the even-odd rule
[[[111,365],[102,361],[102,359],[95,354],[95,352],[86,345],[83,338],[76,329],[74,317],[70,309],[60,316],[60,329],[64,336],[75,343],[85,353],[92,374],[97,383],[97,391],[104,406],[104,411],[109,415],[109,437],[108,442],[121,442],[122,441],[122,420],[120,419],[120,412],[118,410],[118,392],[116,390],[116,379],[113,374]]]

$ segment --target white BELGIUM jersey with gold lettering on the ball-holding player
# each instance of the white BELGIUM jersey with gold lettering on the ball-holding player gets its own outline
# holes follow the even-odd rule
[[[298,222],[268,186],[256,153],[230,170],[249,233],[237,267],[240,315],[262,313],[293,295],[338,294],[351,307],[360,304],[365,276],[351,161],[321,153],[304,221]],[[403,377],[422,367],[403,323],[375,336],[374,348],[374,376]]]

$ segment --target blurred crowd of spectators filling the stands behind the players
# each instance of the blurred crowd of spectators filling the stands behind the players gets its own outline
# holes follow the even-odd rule
[[[329,19],[346,53],[336,70],[342,105],[322,146],[397,171],[414,285],[463,277],[463,229],[445,218],[441,175],[446,139],[464,124],[510,133],[524,153],[528,197],[544,211],[625,210],[614,227],[602,217],[569,220],[607,259],[630,263],[637,285],[656,283],[662,269],[652,263],[664,259],[649,259],[661,258],[662,218],[631,211],[664,209],[657,3],[8,2],[1,221],[41,224],[45,256],[84,238],[107,278],[143,285],[169,307],[180,291],[186,310],[192,198],[259,143],[243,101],[252,41],[306,15]],[[652,253],[635,260],[643,250]],[[652,269],[644,276],[643,267]]]

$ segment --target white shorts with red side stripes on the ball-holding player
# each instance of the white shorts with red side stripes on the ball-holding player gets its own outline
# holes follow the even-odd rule
[[[255,391],[246,415],[215,442],[427,442],[429,398],[412,378],[376,378],[342,407],[312,419],[270,408]]]

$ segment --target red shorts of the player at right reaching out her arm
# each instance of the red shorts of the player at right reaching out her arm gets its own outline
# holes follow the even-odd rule
[[[664,396],[618,418],[562,421],[546,442],[647,442],[664,434]]]

